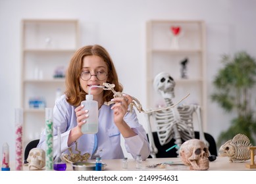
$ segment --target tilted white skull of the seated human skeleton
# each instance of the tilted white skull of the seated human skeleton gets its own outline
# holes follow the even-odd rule
[[[155,90],[159,91],[164,99],[174,98],[175,81],[170,74],[166,72],[157,74],[157,76],[155,76],[153,85]]]

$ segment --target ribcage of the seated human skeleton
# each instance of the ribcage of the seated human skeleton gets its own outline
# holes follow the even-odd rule
[[[195,112],[193,105],[155,112],[153,117],[155,117],[160,144],[165,145],[173,138],[184,141],[194,138],[193,112]]]

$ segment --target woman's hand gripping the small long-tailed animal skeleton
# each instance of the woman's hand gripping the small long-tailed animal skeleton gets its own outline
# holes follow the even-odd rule
[[[124,95],[124,97],[116,97],[111,101],[115,102],[111,107],[114,110],[114,122],[115,124],[121,124],[124,120],[124,115],[128,111],[128,106],[132,102],[132,97]]]

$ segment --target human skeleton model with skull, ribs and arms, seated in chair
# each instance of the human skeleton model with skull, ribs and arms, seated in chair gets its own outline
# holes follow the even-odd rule
[[[154,80],[154,87],[165,99],[166,106],[173,106],[172,98],[174,98],[175,81],[170,74],[166,72],[158,74]],[[178,145],[176,149],[178,149],[182,145],[182,140],[187,141],[195,138],[193,131],[193,113],[196,113],[199,122],[200,139],[209,146],[203,133],[200,106],[196,104],[188,104],[174,106],[173,108],[168,108],[166,110],[155,110],[146,116],[151,156],[153,158],[155,158],[155,154],[157,154],[158,150],[153,139],[150,120],[153,119],[153,125],[157,128],[156,131],[160,144],[166,145],[166,143],[174,138],[175,144]]]

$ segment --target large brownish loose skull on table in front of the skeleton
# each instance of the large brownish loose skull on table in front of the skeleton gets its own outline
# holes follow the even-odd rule
[[[179,152],[182,162],[190,166],[190,170],[209,169],[209,150],[205,143],[199,139],[190,139],[184,142]]]

